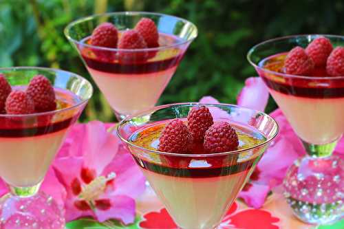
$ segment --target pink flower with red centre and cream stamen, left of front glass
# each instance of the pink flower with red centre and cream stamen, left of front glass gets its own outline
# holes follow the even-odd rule
[[[105,124],[76,124],[54,161],[54,171],[67,190],[66,220],[94,217],[132,223],[135,199],[144,177],[120,140]]]

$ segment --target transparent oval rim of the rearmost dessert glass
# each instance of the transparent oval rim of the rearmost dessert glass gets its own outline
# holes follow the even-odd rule
[[[83,23],[84,21],[88,21],[91,19],[95,19],[96,17],[109,17],[109,16],[116,16],[116,15],[140,15],[140,14],[150,14],[150,15],[156,15],[156,16],[165,16],[165,17],[172,17],[174,19],[177,19],[179,21],[183,21],[184,23],[189,23],[193,28],[195,28],[195,35],[192,36],[189,39],[186,39],[185,41],[180,41],[178,43],[174,43],[173,45],[164,45],[164,46],[160,46],[160,47],[149,47],[149,48],[145,48],[145,49],[118,49],[118,48],[112,48],[112,47],[100,47],[100,46],[94,46],[94,45],[89,45],[87,43],[84,43],[83,41],[77,41],[76,39],[73,39],[72,36],[70,36],[69,34],[69,30],[74,26],[77,25],[78,23]],[[159,51],[159,50],[166,50],[169,48],[173,48],[173,47],[179,47],[180,45],[184,45],[186,43],[191,43],[191,41],[193,41],[194,39],[196,39],[196,37],[198,36],[198,30],[197,27],[194,23],[192,23],[191,21],[188,21],[186,19],[182,19],[181,17],[175,17],[173,15],[169,15],[169,14],[161,14],[161,13],[155,13],[155,12],[144,12],[144,11],[123,11],[123,12],[107,12],[104,14],[93,14],[91,16],[88,17],[83,17],[80,19],[76,19],[75,21],[72,21],[71,23],[69,23],[65,30],[64,30],[64,34],[67,37],[67,39],[69,41],[72,41],[73,43],[76,43],[78,45],[83,45],[83,47],[89,47],[95,50],[103,50],[103,51],[112,51],[112,52],[144,52],[144,51]]]

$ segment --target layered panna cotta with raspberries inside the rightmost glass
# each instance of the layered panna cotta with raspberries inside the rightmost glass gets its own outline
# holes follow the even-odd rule
[[[336,77],[344,74],[336,70],[343,54],[344,47],[332,51],[330,41],[320,36],[305,50],[294,47],[259,63],[257,72],[305,142],[327,144],[344,131],[344,80]]]

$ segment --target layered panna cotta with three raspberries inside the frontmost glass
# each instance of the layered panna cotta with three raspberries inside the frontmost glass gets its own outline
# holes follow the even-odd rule
[[[187,120],[165,120],[139,129],[129,142],[169,153],[155,155],[158,158],[151,162],[149,153],[131,148],[175,223],[185,229],[208,229],[221,221],[261,155],[234,151],[251,149],[266,138],[243,124],[213,121],[208,108],[201,106],[191,109]]]

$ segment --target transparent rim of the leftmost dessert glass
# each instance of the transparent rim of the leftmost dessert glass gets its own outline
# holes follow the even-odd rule
[[[54,110],[54,111],[46,111],[46,112],[39,112],[39,113],[29,113],[29,114],[0,114],[0,117],[3,118],[30,118],[30,117],[37,117],[37,116],[48,116],[48,115],[53,115],[55,113],[62,113],[65,111],[69,111],[72,109],[76,109],[77,107],[80,107],[82,105],[85,105],[88,100],[92,97],[92,94],[94,92],[94,89],[92,87],[92,84],[89,83],[89,80],[83,78],[83,76],[79,76],[78,74],[75,74],[73,72],[67,72],[61,69],[54,69],[54,68],[49,68],[49,67],[0,67],[0,74],[3,71],[16,71],[16,70],[41,70],[41,71],[49,71],[49,72],[61,72],[64,74],[69,74],[69,75],[73,75],[76,78],[85,81],[88,85],[91,86],[91,93],[89,94],[89,96],[87,96],[86,99],[82,99],[80,98],[80,102],[77,102],[76,105],[73,105],[72,107],[67,107],[67,108],[63,108],[63,109],[58,109],[58,110]]]

